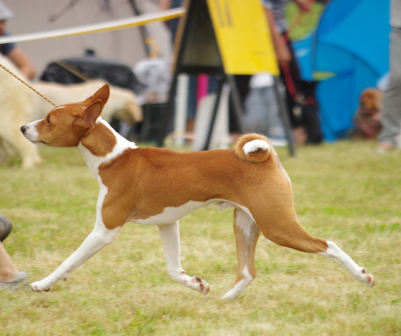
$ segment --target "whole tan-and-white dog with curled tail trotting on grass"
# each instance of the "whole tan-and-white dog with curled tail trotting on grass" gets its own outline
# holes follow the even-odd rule
[[[31,283],[34,291],[48,291],[67,279],[130,221],[157,225],[171,279],[206,295],[209,284],[181,268],[178,220],[210,205],[234,207],[238,274],[222,298],[237,297],[254,279],[260,232],[279,245],[330,258],[373,287],[366,268],[298,223],[290,179],[266,137],[244,135],[235,150],[176,153],[139,148],[99,118],[108,97],[105,85],[87,100],[55,108],[43,120],[21,127],[33,143],[76,147],[100,186],[94,230],[52,274]]]

